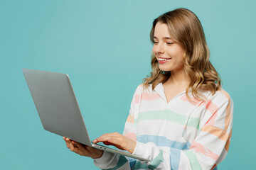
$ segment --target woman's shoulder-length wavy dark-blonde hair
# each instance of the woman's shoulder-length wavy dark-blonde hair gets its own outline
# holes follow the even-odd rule
[[[171,38],[185,50],[183,56],[185,74],[190,79],[186,88],[186,96],[191,89],[192,95],[198,100],[205,100],[201,91],[210,91],[215,94],[221,86],[218,72],[210,63],[210,51],[206,44],[206,37],[198,17],[186,8],[177,8],[156,18],[150,32],[151,42],[154,43],[154,29],[156,23],[165,23],[169,28]],[[166,82],[171,77],[171,72],[163,72],[159,69],[155,55],[151,54],[152,72],[143,81],[144,88],[149,84],[152,89],[157,84]]]

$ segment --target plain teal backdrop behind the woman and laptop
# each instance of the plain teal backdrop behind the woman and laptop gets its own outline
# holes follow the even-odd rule
[[[69,74],[90,136],[122,132],[134,90],[151,70],[151,23],[178,7],[200,18],[210,60],[235,103],[230,151],[218,168],[256,169],[255,5],[0,0],[0,169],[97,169],[92,159],[70,152],[62,137],[43,130],[21,69]]]

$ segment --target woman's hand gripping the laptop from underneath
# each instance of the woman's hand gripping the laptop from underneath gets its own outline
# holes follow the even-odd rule
[[[82,145],[78,142],[70,140],[69,138],[63,137],[65,140],[67,147],[81,156],[91,157],[92,159],[97,159],[102,157],[103,151],[99,149],[95,149],[93,147],[89,147],[87,145]]]

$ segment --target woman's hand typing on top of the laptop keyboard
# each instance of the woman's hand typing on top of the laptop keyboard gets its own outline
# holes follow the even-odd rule
[[[136,141],[131,140],[118,132],[107,133],[98,137],[93,143],[103,142],[105,145],[113,145],[118,149],[127,150],[128,152],[134,152],[136,147]]]

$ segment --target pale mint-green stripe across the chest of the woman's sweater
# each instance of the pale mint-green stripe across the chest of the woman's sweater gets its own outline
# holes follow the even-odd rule
[[[181,115],[178,113],[175,113],[173,111],[164,110],[164,111],[149,111],[149,112],[142,112],[139,113],[139,120],[137,120],[136,123],[142,120],[168,120],[173,123],[178,123],[181,125],[185,125],[186,119],[188,117],[186,115]],[[199,119],[198,118],[189,118],[188,119],[188,125],[193,128],[198,128]]]

